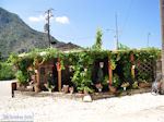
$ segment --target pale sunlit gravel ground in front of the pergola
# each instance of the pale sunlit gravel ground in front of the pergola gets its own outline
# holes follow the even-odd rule
[[[51,96],[0,98],[0,121],[21,117],[35,122],[164,122],[164,96],[140,94],[93,102]]]

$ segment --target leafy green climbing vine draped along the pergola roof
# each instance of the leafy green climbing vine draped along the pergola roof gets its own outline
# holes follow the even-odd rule
[[[73,82],[77,83],[79,82],[79,84],[81,84],[80,81],[83,82],[86,81],[86,84],[83,83],[82,87],[91,87],[92,86],[91,72],[94,69],[93,63],[96,59],[108,58],[112,61],[113,70],[117,69],[118,65],[121,65],[124,76],[124,80],[121,82],[125,81],[128,82],[129,77],[131,77],[131,66],[133,65],[132,62],[130,61],[131,53],[133,54],[134,59],[133,63],[137,70],[140,70],[139,64],[147,63],[148,60],[155,61],[161,56],[161,51],[154,48],[143,50],[122,50],[122,51],[86,49],[73,52],[61,52],[56,49],[45,49],[45,50],[34,50],[30,53],[25,53],[23,57],[12,56],[10,60],[17,66],[19,70],[23,72],[23,74],[25,74],[26,72],[25,69],[27,69],[28,65],[35,66],[37,61],[38,63],[44,63],[54,58],[60,58],[62,66],[65,65],[72,66]],[[140,74],[138,74],[138,77],[144,78],[143,75],[144,72],[140,72]],[[150,74],[147,75],[149,76]],[[82,80],[78,80],[79,77],[81,77]]]

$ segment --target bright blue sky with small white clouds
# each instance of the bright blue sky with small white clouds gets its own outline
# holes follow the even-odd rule
[[[44,32],[45,11],[52,10],[50,34],[60,41],[91,47],[97,28],[103,48],[118,40],[130,48],[161,48],[160,0],[0,0],[0,7],[16,13],[32,28]]]

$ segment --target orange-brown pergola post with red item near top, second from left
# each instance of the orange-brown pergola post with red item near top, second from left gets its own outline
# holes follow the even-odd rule
[[[58,71],[58,90],[61,91],[61,63],[59,58],[57,62],[57,71]]]

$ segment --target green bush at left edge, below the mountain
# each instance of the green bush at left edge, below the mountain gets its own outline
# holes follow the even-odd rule
[[[13,80],[15,77],[12,64],[0,62],[0,81]]]

